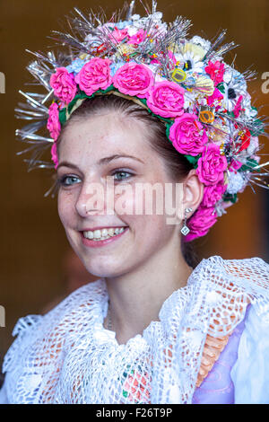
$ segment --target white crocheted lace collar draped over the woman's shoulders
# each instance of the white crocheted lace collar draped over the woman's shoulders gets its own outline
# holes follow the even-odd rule
[[[263,259],[203,259],[126,344],[103,327],[105,280],[82,286],[46,315],[28,315],[4,356],[12,403],[191,403],[208,334],[226,336],[247,303],[269,318]]]

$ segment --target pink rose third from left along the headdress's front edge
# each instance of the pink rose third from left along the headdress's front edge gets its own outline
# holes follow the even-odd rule
[[[151,69],[136,63],[126,63],[121,66],[113,77],[113,84],[119,92],[137,97],[147,97],[153,84]]]

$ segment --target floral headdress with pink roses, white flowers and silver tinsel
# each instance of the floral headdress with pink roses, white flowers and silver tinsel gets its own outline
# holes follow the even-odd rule
[[[22,92],[17,117],[34,119],[16,135],[32,151],[29,170],[57,167],[56,142],[61,128],[82,101],[95,95],[123,96],[165,122],[168,142],[183,154],[204,183],[204,198],[188,221],[185,240],[203,236],[234,204],[247,185],[268,189],[268,171],[260,164],[258,135],[265,134],[265,117],[257,118],[251,105],[247,81],[255,72],[240,74],[223,61],[236,47],[222,44],[225,31],[210,42],[199,36],[187,38],[191,22],[177,17],[162,21],[152,2],[151,13],[133,14],[134,1],[126,19],[114,13],[67,18],[73,34],[53,31],[67,51],[32,53],[36,59],[27,67],[46,93]],[[51,37],[53,38],[53,37]],[[30,52],[31,53],[31,52]],[[38,135],[39,129],[46,134]],[[47,148],[53,163],[40,160]],[[261,172],[261,169],[263,169]]]

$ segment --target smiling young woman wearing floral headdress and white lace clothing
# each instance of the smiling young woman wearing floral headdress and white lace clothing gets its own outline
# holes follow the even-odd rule
[[[99,279],[17,322],[0,398],[267,403],[269,266],[197,264],[188,243],[246,186],[249,163],[259,168],[256,112],[222,61],[229,48],[186,40],[189,22],[168,29],[154,3],[145,18],[131,10],[95,30],[74,21],[84,31],[82,22],[91,31],[80,56],[68,66],[47,57],[47,120],[58,213]],[[39,60],[33,73],[45,70]],[[28,94],[28,111],[41,115],[46,95]]]

